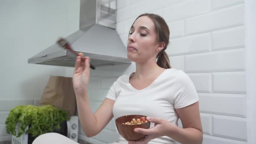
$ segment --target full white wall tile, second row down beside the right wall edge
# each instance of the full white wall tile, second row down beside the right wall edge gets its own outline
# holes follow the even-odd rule
[[[244,24],[244,5],[230,7],[185,20],[185,35],[209,32]]]

